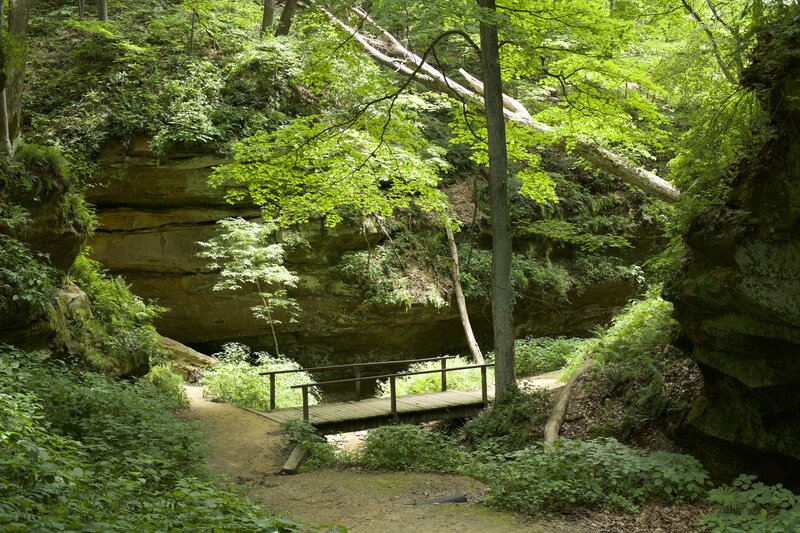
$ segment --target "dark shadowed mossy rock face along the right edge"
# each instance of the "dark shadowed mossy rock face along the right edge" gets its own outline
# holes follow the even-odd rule
[[[708,453],[777,458],[785,472],[800,464],[798,50],[796,31],[760,35],[745,84],[774,135],[741,163],[727,204],[695,219],[686,268],[665,291],[705,378],[691,430],[723,444]]]

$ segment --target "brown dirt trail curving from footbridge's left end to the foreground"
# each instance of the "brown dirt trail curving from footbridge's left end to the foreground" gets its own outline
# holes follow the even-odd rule
[[[296,476],[277,472],[290,452],[280,426],[237,407],[202,397],[187,387],[188,418],[209,443],[212,472],[241,484],[270,512],[310,524],[342,524],[350,533],[580,533],[576,523],[523,522],[513,513],[473,503],[484,491],[464,477],[416,473],[325,470]],[[423,505],[464,493],[471,503]]]

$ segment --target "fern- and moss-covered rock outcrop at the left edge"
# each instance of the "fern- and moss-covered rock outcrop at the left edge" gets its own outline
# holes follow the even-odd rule
[[[46,345],[46,310],[91,224],[57,149],[23,145],[0,162],[0,342]]]

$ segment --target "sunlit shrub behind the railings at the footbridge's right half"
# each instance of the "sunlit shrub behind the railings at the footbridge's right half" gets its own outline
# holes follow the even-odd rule
[[[459,366],[468,366],[473,363],[467,361],[463,357],[456,357],[447,360],[447,368],[456,368]],[[423,372],[426,370],[440,370],[441,363],[439,361],[428,361],[426,363],[415,363],[408,367],[409,372]],[[494,369],[488,368],[486,373],[486,381],[491,384],[494,383]],[[423,392],[439,392],[442,390],[442,374],[441,372],[432,372],[430,374],[422,374],[419,376],[403,376],[395,380],[395,387],[397,388],[398,396],[405,396],[408,394],[420,394]],[[447,388],[449,390],[459,390],[464,392],[473,392],[481,390],[481,369],[470,368],[469,370],[457,370],[455,372],[447,373]],[[377,395],[388,398],[391,393],[389,381],[380,382],[378,384]]]

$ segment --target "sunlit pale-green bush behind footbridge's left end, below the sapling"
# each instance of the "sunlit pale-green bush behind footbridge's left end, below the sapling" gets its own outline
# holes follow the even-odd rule
[[[250,349],[242,344],[229,343],[223,350],[222,353],[214,354],[221,361],[206,370],[200,379],[203,391],[220,400],[258,411],[269,409],[269,376],[262,376],[261,372],[302,368],[295,361],[285,357],[250,352]],[[248,360],[255,360],[256,364],[251,364]],[[302,405],[302,391],[291,387],[313,382],[313,378],[307,372],[275,376],[276,408]],[[315,389],[311,389],[308,400],[310,405],[315,405],[319,401],[319,394]]]

